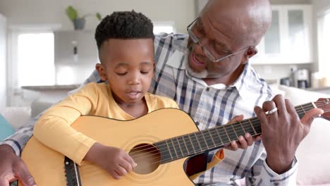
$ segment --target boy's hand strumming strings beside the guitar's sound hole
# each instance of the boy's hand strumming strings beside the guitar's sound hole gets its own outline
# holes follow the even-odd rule
[[[90,151],[87,152],[85,160],[102,167],[117,180],[137,166],[123,149],[108,147],[98,142],[93,144]]]

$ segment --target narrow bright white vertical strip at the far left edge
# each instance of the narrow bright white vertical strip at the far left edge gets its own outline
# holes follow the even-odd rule
[[[0,110],[6,107],[6,18],[0,14]]]

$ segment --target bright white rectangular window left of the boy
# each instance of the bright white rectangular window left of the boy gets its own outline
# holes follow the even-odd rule
[[[18,35],[18,87],[54,85],[54,34]]]

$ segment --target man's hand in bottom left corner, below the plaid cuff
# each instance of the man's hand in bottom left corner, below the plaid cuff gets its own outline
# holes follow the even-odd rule
[[[35,180],[27,166],[13,149],[7,145],[0,145],[0,186],[9,186],[10,182],[20,180],[24,186],[33,186]]]

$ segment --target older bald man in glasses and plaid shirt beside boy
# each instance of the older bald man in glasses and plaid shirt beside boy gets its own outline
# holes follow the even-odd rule
[[[176,100],[201,130],[240,114],[245,118],[257,114],[262,123],[262,142],[247,147],[251,135],[239,137],[242,149],[226,151],[224,161],[194,180],[197,185],[234,185],[240,178],[247,185],[295,185],[295,150],[309,132],[312,118],[322,111],[312,109],[299,120],[291,103],[274,97],[248,63],[270,23],[267,0],[210,0],[188,25],[188,35],[155,38],[157,67],[150,92]],[[85,83],[97,80],[93,73]],[[31,131],[20,130],[0,146],[1,186],[17,178],[26,185],[35,184],[15,155]]]

